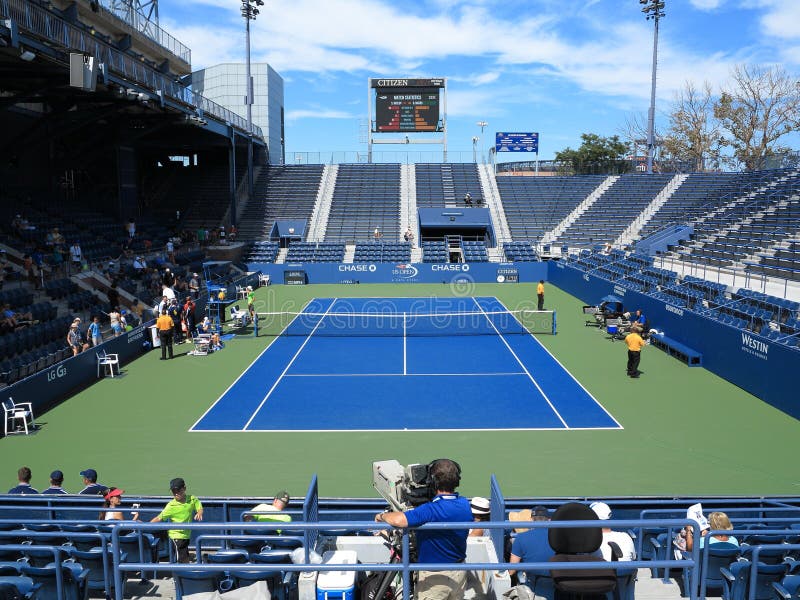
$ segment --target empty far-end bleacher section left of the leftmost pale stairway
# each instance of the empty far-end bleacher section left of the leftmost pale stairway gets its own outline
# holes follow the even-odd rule
[[[242,214],[239,239],[266,239],[277,219],[310,219],[324,170],[323,165],[286,165],[262,171],[256,197]]]

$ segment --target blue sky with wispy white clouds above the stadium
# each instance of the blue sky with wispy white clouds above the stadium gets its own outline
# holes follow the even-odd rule
[[[621,134],[649,105],[653,26],[638,0],[265,2],[252,58],[284,78],[288,162],[295,152],[323,161],[365,152],[369,77],[447,78],[451,160],[471,159],[481,120],[485,147],[496,131],[538,131],[539,156],[550,159],[579,146],[583,132]],[[244,61],[237,0],[161,0],[159,11],[162,27],[192,49],[193,68]],[[718,90],[741,63],[800,77],[800,0],[666,0],[666,13],[660,123],[687,80]]]

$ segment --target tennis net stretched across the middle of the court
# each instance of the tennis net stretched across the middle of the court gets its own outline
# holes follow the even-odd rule
[[[267,335],[394,337],[556,333],[552,310],[444,313],[258,313]]]

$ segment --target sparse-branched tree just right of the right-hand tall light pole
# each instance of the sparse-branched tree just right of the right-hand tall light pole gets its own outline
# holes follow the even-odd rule
[[[687,81],[676,93],[669,115],[669,129],[664,137],[664,151],[675,161],[687,163],[695,171],[704,171],[720,142],[720,127],[714,119],[714,94],[711,84],[702,89]]]

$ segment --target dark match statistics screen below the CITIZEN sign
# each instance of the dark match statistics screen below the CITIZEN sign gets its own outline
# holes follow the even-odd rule
[[[439,131],[439,90],[379,89],[375,98],[376,131]]]

